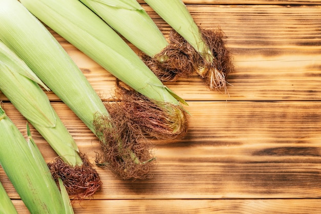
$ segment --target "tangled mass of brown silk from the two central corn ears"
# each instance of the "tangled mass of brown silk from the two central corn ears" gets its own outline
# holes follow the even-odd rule
[[[152,177],[156,162],[146,135],[173,140],[183,138],[188,130],[182,106],[151,101],[119,80],[114,98],[105,102],[105,107],[109,116],[96,114],[94,120],[102,149],[96,164],[110,168],[124,180]]]

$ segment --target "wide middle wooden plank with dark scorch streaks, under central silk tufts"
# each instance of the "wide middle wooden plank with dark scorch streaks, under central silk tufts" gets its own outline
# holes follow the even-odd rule
[[[62,103],[53,103],[79,150],[94,160],[93,134]],[[11,104],[7,114],[25,133]],[[320,102],[189,102],[186,138],[153,141],[154,177],[121,181],[98,169],[104,186],[95,199],[317,198],[321,196]],[[55,157],[32,129],[46,161]],[[18,198],[4,172],[0,180]]]

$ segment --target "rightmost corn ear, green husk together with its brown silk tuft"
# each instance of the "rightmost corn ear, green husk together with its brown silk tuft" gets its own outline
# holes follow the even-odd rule
[[[165,56],[174,55],[174,59],[171,59],[171,61],[178,61],[174,68],[179,68],[184,73],[184,68],[188,67],[186,70],[188,74],[189,70],[194,67],[193,70],[196,70],[196,73],[202,77],[209,89],[224,89],[227,92],[227,75],[233,70],[234,66],[231,53],[226,49],[223,41],[223,31],[220,29],[200,29],[182,0],[146,0],[145,2],[178,33],[170,33],[170,41],[172,41],[176,50],[173,51],[170,47],[160,52],[158,57],[164,59]],[[180,61],[175,59],[177,54],[180,54],[183,59]],[[189,57],[184,59],[186,55]],[[148,61],[148,57],[145,57],[145,60]],[[155,65],[151,62],[150,66]],[[162,71],[160,73],[162,74]],[[165,75],[166,77],[172,80],[175,75]]]

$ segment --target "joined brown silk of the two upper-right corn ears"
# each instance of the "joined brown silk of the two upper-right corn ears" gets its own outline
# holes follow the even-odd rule
[[[169,32],[169,45],[154,57],[139,53],[145,64],[163,82],[189,77],[194,71],[210,90],[227,92],[227,77],[233,71],[232,54],[226,48],[224,32],[217,29],[200,29],[203,40],[212,52],[201,56],[175,30]]]

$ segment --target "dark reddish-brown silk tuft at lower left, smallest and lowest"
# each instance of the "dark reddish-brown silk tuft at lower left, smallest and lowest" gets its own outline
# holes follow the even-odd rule
[[[57,157],[48,163],[52,177],[56,182],[61,178],[69,197],[83,200],[92,197],[102,185],[98,172],[93,168],[85,154],[79,154],[83,160],[83,165],[71,166]]]

